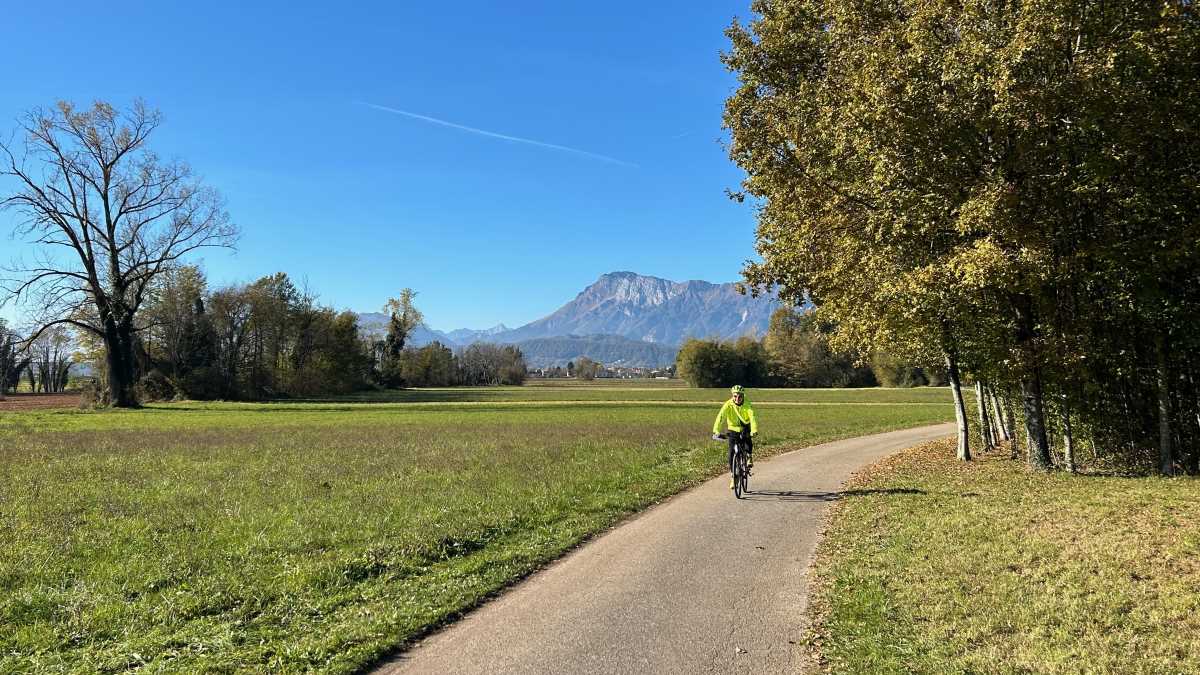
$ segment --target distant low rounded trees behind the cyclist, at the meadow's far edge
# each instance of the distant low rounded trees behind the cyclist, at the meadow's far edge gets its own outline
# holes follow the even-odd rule
[[[679,376],[692,387],[918,387],[946,384],[942,369],[912,366],[887,353],[864,359],[829,342],[833,328],[815,312],[781,307],[760,341],[689,340]]]

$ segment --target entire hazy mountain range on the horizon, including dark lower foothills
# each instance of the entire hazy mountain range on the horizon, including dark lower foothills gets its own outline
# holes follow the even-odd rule
[[[433,341],[448,347],[515,344],[522,350],[528,347],[529,363],[539,366],[559,365],[580,356],[601,363],[656,366],[673,363],[674,351],[689,338],[761,336],[779,306],[774,295],[744,295],[736,283],[680,282],[614,271],[600,276],[553,313],[520,328],[499,324],[484,330],[460,328],[444,333],[421,325],[408,344],[414,347]],[[383,313],[360,313],[359,322],[364,334],[382,336],[388,330],[388,316]],[[572,340],[553,340],[562,338]],[[647,351],[644,345],[665,350]],[[562,357],[580,348],[586,351]],[[539,363],[534,363],[535,358]]]

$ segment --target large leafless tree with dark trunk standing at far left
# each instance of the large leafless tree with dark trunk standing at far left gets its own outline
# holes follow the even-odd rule
[[[20,215],[35,262],[5,280],[5,300],[31,304],[40,325],[70,324],[103,340],[113,405],[137,405],[138,310],[160,274],[187,253],[232,246],[236,228],[220,195],[190,167],[160,160],[146,141],[161,115],[140,101],[126,112],[96,102],[34,109],[23,151],[0,143],[0,177],[16,183],[0,208]]]

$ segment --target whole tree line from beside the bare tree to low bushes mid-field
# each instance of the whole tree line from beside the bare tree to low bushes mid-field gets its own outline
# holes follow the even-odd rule
[[[145,309],[142,394],[253,400],[524,381],[516,347],[473,345],[455,354],[438,342],[407,346],[422,321],[415,295],[406,288],[389,300],[386,331],[371,335],[354,312],[318,305],[282,273],[210,291],[198,268],[170,270]]]

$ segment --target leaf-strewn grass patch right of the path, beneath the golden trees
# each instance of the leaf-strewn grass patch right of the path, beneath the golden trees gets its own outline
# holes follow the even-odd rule
[[[835,673],[1200,673],[1200,480],[1033,474],[953,441],[853,480],[817,565]]]

